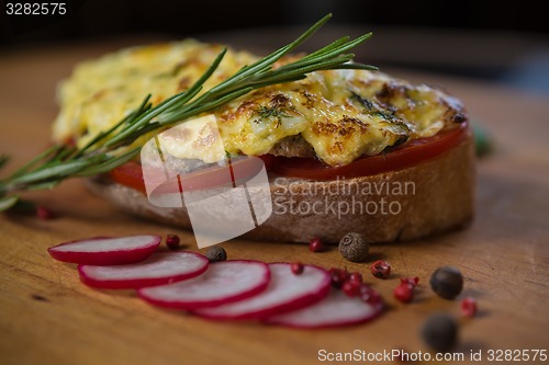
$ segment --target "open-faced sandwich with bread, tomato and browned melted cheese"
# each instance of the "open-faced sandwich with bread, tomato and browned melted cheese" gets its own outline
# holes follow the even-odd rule
[[[82,147],[132,112],[188,90],[222,46],[193,39],[123,49],[78,65],[59,89],[56,141]],[[285,56],[276,67],[296,56]],[[228,49],[204,90],[259,57]],[[215,117],[225,153],[258,157],[272,213],[244,235],[282,242],[337,242],[349,232],[371,242],[425,237],[473,216],[474,156],[460,101],[377,70],[334,69],[250,91],[203,113]],[[145,145],[154,134],[137,138]],[[173,146],[165,158],[184,158]],[[214,180],[208,170],[200,179]],[[186,207],[158,207],[146,194],[139,159],[89,179],[123,209],[191,228]]]

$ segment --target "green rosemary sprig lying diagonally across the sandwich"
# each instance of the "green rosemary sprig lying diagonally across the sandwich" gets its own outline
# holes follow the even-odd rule
[[[332,14],[327,14],[292,43],[281,47],[258,61],[243,67],[235,75],[203,91],[204,82],[213,75],[225,56],[226,48],[214,59],[209,69],[184,92],[178,93],[153,107],[147,95],[141,105],[124,119],[108,130],[99,133],[85,147],[55,145],[8,178],[0,180],[0,210],[13,206],[18,193],[53,189],[69,178],[100,174],[133,159],[139,147],[130,146],[146,133],[159,130],[187,118],[212,111],[248,92],[267,85],[304,79],[307,73],[330,69],[376,69],[373,66],[352,62],[348,53],[371,36],[365,34],[356,39],[341,37],[293,62],[272,69],[281,57],[300,46],[322,27]],[[7,161],[0,158],[0,167]]]

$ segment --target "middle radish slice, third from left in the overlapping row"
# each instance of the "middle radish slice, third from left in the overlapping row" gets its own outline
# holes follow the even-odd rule
[[[202,275],[194,278],[142,288],[137,294],[156,306],[192,310],[249,298],[261,293],[269,280],[267,264],[231,260],[210,264]]]

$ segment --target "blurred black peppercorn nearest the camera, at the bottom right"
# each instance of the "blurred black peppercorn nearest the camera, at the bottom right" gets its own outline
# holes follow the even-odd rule
[[[458,339],[458,324],[448,313],[429,316],[422,327],[425,343],[437,352],[450,351]]]

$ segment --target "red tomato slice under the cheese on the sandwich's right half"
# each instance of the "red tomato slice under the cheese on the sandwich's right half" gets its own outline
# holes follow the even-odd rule
[[[365,157],[340,167],[330,167],[316,159],[277,157],[273,172],[288,178],[335,180],[397,171],[439,156],[459,145],[468,135],[467,123],[428,138],[417,138],[388,153]]]

